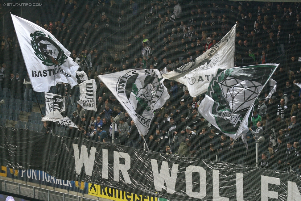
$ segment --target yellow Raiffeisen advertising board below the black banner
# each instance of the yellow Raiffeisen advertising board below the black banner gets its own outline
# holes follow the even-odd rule
[[[138,195],[131,192],[121,191],[107,186],[101,186],[89,183],[88,194],[100,198],[115,200],[115,201],[158,201],[156,197],[146,195]]]

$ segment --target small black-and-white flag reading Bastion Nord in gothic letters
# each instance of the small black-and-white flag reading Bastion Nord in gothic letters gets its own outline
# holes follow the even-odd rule
[[[64,96],[52,93],[45,93],[45,111],[46,115],[51,111],[58,110],[60,113],[64,112],[66,98]]]

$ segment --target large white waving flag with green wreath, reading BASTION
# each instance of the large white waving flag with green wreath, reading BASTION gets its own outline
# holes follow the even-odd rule
[[[47,30],[11,14],[34,91],[48,92],[57,83],[77,85],[78,65],[70,52]]]

